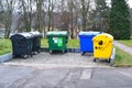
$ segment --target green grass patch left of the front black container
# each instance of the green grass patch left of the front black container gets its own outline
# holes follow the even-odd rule
[[[9,38],[0,38],[0,55],[11,53],[11,41]]]

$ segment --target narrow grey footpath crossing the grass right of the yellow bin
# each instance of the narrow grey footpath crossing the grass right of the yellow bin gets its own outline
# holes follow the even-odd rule
[[[121,48],[122,51],[129,53],[130,55],[132,55],[132,48],[131,47],[129,47],[129,46],[127,46],[124,44],[121,44],[121,43],[119,43],[117,41],[113,42],[113,45]]]

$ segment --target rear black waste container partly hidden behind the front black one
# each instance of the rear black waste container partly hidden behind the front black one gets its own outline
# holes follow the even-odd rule
[[[33,47],[32,51],[40,53],[41,52],[41,38],[42,38],[42,34],[37,31],[35,32],[31,32],[31,34],[33,35]]]

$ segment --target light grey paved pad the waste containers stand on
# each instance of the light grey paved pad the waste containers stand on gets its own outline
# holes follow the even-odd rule
[[[50,54],[40,53],[32,58],[14,58],[4,64],[8,65],[24,65],[24,66],[43,66],[43,67],[109,67],[109,63],[106,61],[94,62],[92,55],[86,54],[84,56],[80,53],[66,53],[66,54]]]

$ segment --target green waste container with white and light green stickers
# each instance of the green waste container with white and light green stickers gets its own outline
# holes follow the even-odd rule
[[[53,53],[54,51],[62,51],[63,53],[67,50],[67,31],[51,31],[47,32],[48,38],[48,51]]]

